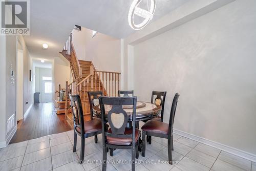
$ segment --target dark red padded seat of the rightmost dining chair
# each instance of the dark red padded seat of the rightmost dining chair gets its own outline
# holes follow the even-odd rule
[[[148,120],[141,129],[147,132],[168,134],[169,124],[157,120]]]

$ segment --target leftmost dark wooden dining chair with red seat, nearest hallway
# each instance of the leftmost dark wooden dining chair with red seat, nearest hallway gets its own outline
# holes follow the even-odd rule
[[[79,163],[83,163],[85,139],[102,133],[101,120],[83,120],[82,103],[79,95],[69,94],[74,122],[74,145],[73,152],[76,152],[77,135],[81,137],[81,149]],[[97,143],[97,142],[95,142]]]

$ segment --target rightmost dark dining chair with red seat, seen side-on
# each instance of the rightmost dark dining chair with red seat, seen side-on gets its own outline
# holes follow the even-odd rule
[[[173,125],[174,125],[174,117],[177,108],[177,102],[179,99],[179,93],[176,93],[173,99],[172,108],[170,110],[170,118],[169,123],[160,122],[157,120],[148,120],[142,127],[142,156],[145,157],[146,152],[146,142],[145,136],[154,136],[159,138],[168,139],[168,161],[170,164],[173,164],[172,151],[174,150],[174,142],[173,142]]]

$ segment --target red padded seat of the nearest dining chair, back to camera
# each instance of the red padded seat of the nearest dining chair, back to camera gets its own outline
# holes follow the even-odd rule
[[[111,129],[108,130],[108,133],[112,134]],[[133,129],[125,129],[124,134],[132,134]],[[135,129],[135,142],[139,139],[140,130]],[[106,141],[110,144],[114,145],[130,145],[132,143],[132,138],[115,138],[115,137],[109,137],[106,136]]]

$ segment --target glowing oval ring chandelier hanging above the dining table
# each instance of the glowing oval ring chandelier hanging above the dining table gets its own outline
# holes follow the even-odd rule
[[[144,10],[142,8],[139,8],[138,5],[140,4],[142,0],[134,0],[128,14],[128,22],[131,28],[134,30],[140,30],[143,29],[148,23],[150,23],[150,20],[153,18],[155,9],[156,9],[156,0],[151,0],[151,5],[149,11]],[[140,24],[134,24],[134,14],[140,16],[143,18],[143,22]]]

